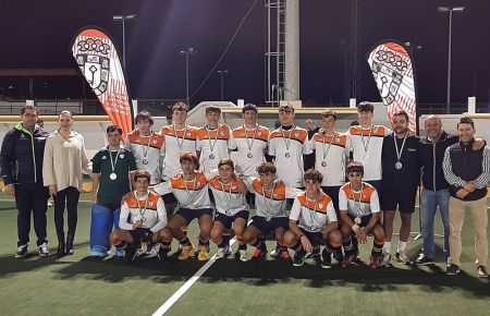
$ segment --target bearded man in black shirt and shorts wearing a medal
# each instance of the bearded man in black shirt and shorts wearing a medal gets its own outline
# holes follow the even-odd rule
[[[415,197],[420,182],[418,159],[419,141],[408,135],[408,114],[395,112],[392,117],[394,132],[384,137],[382,148],[382,187],[381,208],[384,212],[384,236],[382,265],[390,266],[391,238],[396,207],[400,210],[402,226],[400,228],[396,262],[408,264],[405,254],[406,242],[411,234],[412,214],[415,211]]]

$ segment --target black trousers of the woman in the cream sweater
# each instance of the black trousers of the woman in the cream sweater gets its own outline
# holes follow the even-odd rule
[[[78,221],[79,191],[74,186],[63,189],[54,195],[54,226],[58,236],[64,233],[64,208],[68,210],[69,234],[74,235]]]

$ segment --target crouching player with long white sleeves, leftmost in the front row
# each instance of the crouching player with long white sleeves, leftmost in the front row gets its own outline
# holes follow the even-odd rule
[[[131,263],[142,242],[161,242],[158,258],[168,262],[172,233],[166,228],[168,221],[163,200],[158,194],[148,191],[151,179],[148,171],[136,171],[133,179],[136,191],[121,206],[121,229],[111,232],[111,244],[124,248],[126,259]]]

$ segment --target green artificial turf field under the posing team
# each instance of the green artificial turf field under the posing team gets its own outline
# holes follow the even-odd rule
[[[0,199],[0,315],[151,315],[205,265],[194,258],[168,266],[156,257],[138,258],[132,265],[114,257],[90,258],[88,202],[79,204],[73,256],[38,257],[32,229],[30,255],[16,259],[16,209],[3,193]],[[442,229],[438,226],[436,231]],[[52,207],[48,232],[54,252]],[[313,262],[295,268],[273,259],[226,259],[216,262],[167,315],[489,315],[490,283],[476,277],[468,217],[463,232],[460,276],[445,276],[441,257],[433,267],[394,263],[391,268],[370,270],[365,265],[370,243],[360,246],[365,264],[346,270],[323,270]],[[195,224],[189,235],[195,242]],[[437,243],[441,254],[442,239]],[[411,240],[407,253],[415,255],[420,246],[421,240]]]

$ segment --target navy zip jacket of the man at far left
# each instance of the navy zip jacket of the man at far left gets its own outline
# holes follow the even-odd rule
[[[36,125],[34,133],[19,123],[3,137],[0,166],[3,183],[42,185],[42,157],[48,131]]]

